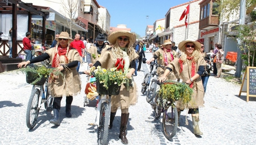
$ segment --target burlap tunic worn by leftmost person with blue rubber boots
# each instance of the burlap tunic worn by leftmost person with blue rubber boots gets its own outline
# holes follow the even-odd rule
[[[69,47],[67,48],[69,49]],[[56,48],[51,48],[46,51],[46,53],[51,57],[51,62],[53,61]],[[76,49],[70,49],[67,52],[68,63],[73,61],[80,61],[81,57]],[[65,56],[60,56],[60,64],[64,64]],[[77,67],[77,66],[76,66]],[[81,90],[81,82],[79,79],[79,74],[74,68],[66,68],[63,71],[64,79],[60,75],[59,78],[54,78],[54,80],[49,81],[48,89],[50,90],[51,95],[54,97],[65,97],[65,96],[75,96]]]

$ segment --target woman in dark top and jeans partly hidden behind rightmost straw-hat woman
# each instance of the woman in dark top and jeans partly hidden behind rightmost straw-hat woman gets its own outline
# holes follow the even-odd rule
[[[203,43],[201,43],[201,50],[200,51],[201,51],[202,57],[204,58],[204,60],[207,64],[206,68],[205,68],[205,71],[201,76],[202,83],[203,83],[203,86],[204,86],[204,93],[205,93],[207,82],[208,82],[209,76],[211,75],[210,70],[211,70],[211,67],[212,67],[212,65],[211,65],[212,62],[210,61],[210,58],[208,58],[208,55],[204,51],[204,44]]]

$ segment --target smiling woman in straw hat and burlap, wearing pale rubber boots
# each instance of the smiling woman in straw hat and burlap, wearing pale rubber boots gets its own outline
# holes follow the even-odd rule
[[[194,103],[188,103],[188,113],[192,114],[194,134],[202,135],[203,133],[199,130],[199,107],[203,107],[204,88],[201,80],[201,75],[205,70],[206,62],[201,55],[200,49],[201,44],[196,41],[182,41],[179,43],[178,48],[181,51],[181,56],[175,58],[166,67],[162,77],[159,77],[159,81],[165,81],[165,77],[169,72],[173,71],[178,79],[182,79],[184,82],[190,84],[193,89],[192,101]],[[177,101],[177,108],[183,110],[185,106]]]

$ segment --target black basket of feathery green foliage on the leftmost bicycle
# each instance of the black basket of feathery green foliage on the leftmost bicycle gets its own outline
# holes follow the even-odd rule
[[[54,79],[54,76],[63,74],[56,68],[46,68],[45,66],[27,66],[20,69],[23,73],[26,73],[27,83],[32,85],[41,85],[44,83],[48,76]]]

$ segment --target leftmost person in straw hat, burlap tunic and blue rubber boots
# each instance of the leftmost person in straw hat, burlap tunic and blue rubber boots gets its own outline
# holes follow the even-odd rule
[[[61,32],[57,40],[57,45],[51,49],[48,49],[46,53],[39,55],[26,62],[21,62],[18,67],[24,67],[30,63],[41,62],[48,58],[51,59],[52,67],[59,69],[63,72],[64,78],[59,75],[50,79],[48,82],[48,89],[51,95],[54,96],[53,100],[53,113],[54,119],[50,120],[50,123],[59,126],[60,125],[60,102],[63,96],[66,97],[66,117],[70,118],[72,115],[71,103],[73,96],[81,90],[81,84],[79,74],[76,71],[78,62],[81,61],[81,57],[76,49],[69,48],[73,39],[69,38],[67,32]]]

